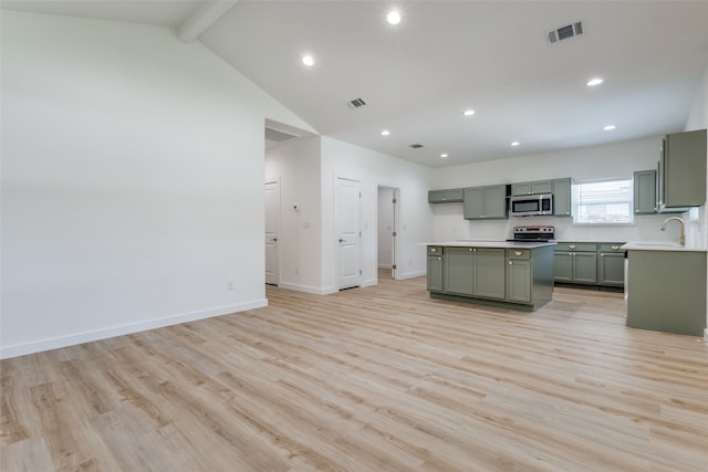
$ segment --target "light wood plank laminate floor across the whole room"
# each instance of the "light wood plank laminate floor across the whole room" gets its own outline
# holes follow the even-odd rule
[[[0,470],[707,471],[701,339],[624,326],[621,294],[528,313],[424,279],[1,366]]]

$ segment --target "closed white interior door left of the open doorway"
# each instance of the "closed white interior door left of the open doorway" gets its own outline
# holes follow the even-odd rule
[[[339,289],[350,289],[362,284],[360,182],[337,178],[335,183],[335,225],[337,238]]]

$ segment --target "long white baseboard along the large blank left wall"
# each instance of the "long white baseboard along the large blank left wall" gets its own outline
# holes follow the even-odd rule
[[[60,347],[73,346],[76,344],[90,343],[93,340],[101,340],[110,337],[123,336],[126,334],[178,325],[180,323],[195,322],[197,319],[210,318],[214,316],[222,316],[231,313],[244,312],[247,310],[262,308],[263,306],[268,306],[268,300],[258,300],[248,303],[240,303],[238,305],[219,306],[216,308],[183,313],[157,319],[148,319],[145,322],[131,323],[122,326],[113,326],[104,329],[95,329],[67,336],[59,336],[48,339],[33,340],[30,343],[2,346],[0,347],[0,359],[24,356],[27,354],[41,353],[43,350],[59,349]]]

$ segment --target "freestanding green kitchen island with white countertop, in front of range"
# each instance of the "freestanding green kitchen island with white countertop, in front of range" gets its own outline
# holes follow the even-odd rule
[[[460,240],[425,245],[431,297],[527,311],[552,298],[554,242]]]

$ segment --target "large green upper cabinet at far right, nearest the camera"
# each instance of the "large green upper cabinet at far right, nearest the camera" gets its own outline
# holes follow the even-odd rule
[[[659,155],[659,211],[706,202],[706,129],[666,135]]]

